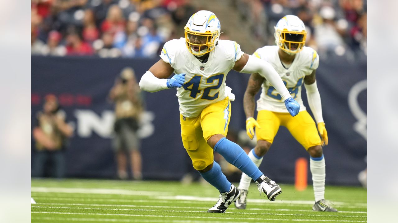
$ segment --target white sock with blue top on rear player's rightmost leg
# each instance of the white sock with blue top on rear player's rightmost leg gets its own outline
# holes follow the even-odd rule
[[[315,160],[313,160],[315,159]],[[325,158],[310,157],[310,170],[312,174],[312,185],[314,186],[315,202],[325,199]]]

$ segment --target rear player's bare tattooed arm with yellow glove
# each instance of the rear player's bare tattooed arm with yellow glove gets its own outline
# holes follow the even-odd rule
[[[250,139],[253,139],[254,137],[254,127],[260,128],[260,125],[257,123],[256,119],[254,119],[254,109],[256,108],[254,96],[256,96],[263,81],[264,78],[261,77],[261,75],[258,73],[252,73],[243,96],[243,108],[246,114],[246,134]]]

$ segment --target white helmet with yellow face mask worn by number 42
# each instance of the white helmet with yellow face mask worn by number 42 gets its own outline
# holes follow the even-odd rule
[[[214,50],[221,33],[219,19],[213,12],[206,10],[194,13],[184,29],[187,48],[195,56],[203,56]]]

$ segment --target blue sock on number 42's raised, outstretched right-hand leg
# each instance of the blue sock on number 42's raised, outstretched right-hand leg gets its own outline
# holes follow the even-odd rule
[[[246,152],[235,142],[231,142],[225,137],[220,139],[214,146],[214,151],[225,158],[228,163],[236,166],[243,173],[256,181],[263,173],[256,167]]]

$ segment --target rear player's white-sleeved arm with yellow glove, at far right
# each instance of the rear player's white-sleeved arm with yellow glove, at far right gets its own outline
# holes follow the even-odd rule
[[[316,70],[306,77],[304,77],[304,86],[307,92],[308,105],[310,106],[312,114],[314,114],[315,121],[318,125],[318,131],[322,136],[322,145],[328,144],[328,132],[326,132],[325,122],[322,117],[321,96],[315,79]]]

